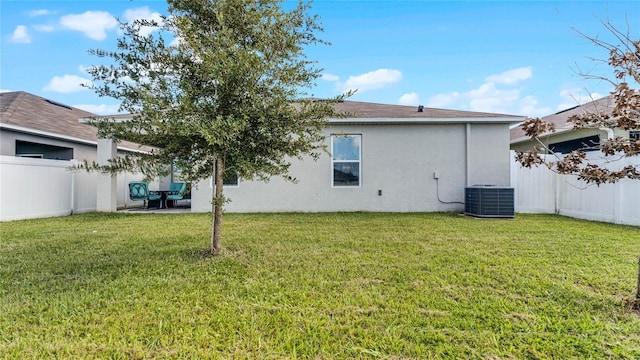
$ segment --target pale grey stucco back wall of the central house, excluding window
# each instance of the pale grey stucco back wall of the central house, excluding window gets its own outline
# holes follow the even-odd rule
[[[509,185],[507,124],[335,125],[332,133],[362,135],[360,187],[332,187],[325,154],[294,160],[295,184],[273,178],[225,187],[226,211],[461,211],[465,186]],[[212,192],[209,180],[197,184],[192,211],[211,211]]]

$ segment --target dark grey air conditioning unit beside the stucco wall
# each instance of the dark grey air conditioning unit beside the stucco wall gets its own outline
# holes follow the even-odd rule
[[[474,185],[464,189],[464,212],[477,217],[512,218],[513,188],[495,185]]]

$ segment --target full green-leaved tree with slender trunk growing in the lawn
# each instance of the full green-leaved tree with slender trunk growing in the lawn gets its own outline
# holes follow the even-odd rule
[[[101,171],[166,175],[174,164],[195,182],[215,178],[210,252],[222,250],[223,179],[290,180],[290,160],[323,149],[333,102],[308,91],[321,75],[305,55],[326,44],[310,3],[280,0],[168,0],[162,21],[123,23],[116,51],[91,50],[111,63],[90,68],[92,88],[121,100],[129,121],[96,119],[102,137],[154,148]],[[290,9],[285,9],[288,5]]]

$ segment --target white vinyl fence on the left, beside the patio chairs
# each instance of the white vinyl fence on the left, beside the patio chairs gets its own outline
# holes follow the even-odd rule
[[[96,211],[97,174],[69,170],[73,163],[0,156],[0,221]],[[129,200],[127,185],[140,178],[118,175],[118,208],[140,205]]]

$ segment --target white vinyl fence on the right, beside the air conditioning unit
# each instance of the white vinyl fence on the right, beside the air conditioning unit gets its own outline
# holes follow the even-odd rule
[[[513,154],[512,154],[513,155]],[[612,163],[590,156],[599,166],[620,168],[638,161],[621,159]],[[513,158],[513,156],[512,156]],[[633,160],[633,161],[632,161]],[[558,175],[546,166],[511,167],[516,212],[550,213],[570,217],[640,226],[640,181],[623,179],[615,184],[587,185],[575,176]]]

